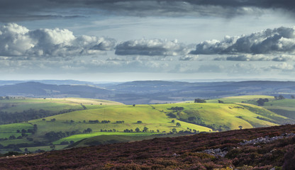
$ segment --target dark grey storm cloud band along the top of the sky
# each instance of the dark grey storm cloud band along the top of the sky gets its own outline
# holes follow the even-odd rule
[[[72,10],[77,8],[87,8],[87,13],[112,13],[115,15],[118,14],[127,16],[219,16],[230,18],[249,13],[261,13],[260,9],[281,9],[283,11],[294,13],[295,1],[1,0],[0,21],[11,22],[47,18],[77,17],[77,10]],[[72,15],[72,13],[75,14]],[[78,16],[83,16],[83,14],[83,12],[79,13]]]

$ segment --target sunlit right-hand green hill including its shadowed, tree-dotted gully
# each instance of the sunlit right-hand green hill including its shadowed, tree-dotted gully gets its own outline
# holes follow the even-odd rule
[[[175,106],[182,107],[183,111],[173,111],[171,108]],[[172,113],[179,120],[213,129],[221,127],[220,130],[238,129],[239,126],[243,128],[272,126],[288,120],[282,115],[277,115],[259,106],[248,104],[246,107],[241,103],[177,103],[153,105],[153,107],[167,114]],[[252,112],[254,110],[255,113]]]

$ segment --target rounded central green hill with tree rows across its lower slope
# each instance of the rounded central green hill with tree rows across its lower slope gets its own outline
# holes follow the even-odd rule
[[[55,122],[48,121],[53,118],[55,118]],[[70,123],[71,120],[74,122]],[[89,120],[99,120],[100,123],[89,123]],[[109,120],[111,122],[101,123],[101,120]],[[122,120],[124,123],[116,123],[116,121]],[[142,123],[137,123],[138,121],[142,121]],[[123,130],[135,130],[135,128],[139,128],[142,131],[145,127],[149,131],[154,130],[154,132],[157,132],[157,130],[160,130],[160,132],[169,132],[172,128],[177,128],[177,131],[187,130],[187,128],[207,132],[211,130],[210,128],[185,123],[180,120],[177,120],[177,122],[181,123],[182,126],[176,127],[175,123],[172,123],[172,118],[168,118],[165,113],[157,111],[148,105],[137,105],[135,107],[123,105],[101,106],[101,108],[50,116],[45,121],[42,119],[29,121],[29,123],[38,125],[38,132],[35,134],[36,137],[42,136],[50,131],[65,132],[79,130],[83,132],[87,128],[91,128],[92,132],[100,132],[101,130],[123,132]]]

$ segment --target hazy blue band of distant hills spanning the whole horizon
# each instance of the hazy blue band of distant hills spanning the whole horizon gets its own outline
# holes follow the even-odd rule
[[[35,83],[34,83],[35,82]],[[290,98],[295,81],[130,81],[94,84],[74,80],[0,81],[0,96],[100,98],[125,104],[177,103],[194,98],[268,95]],[[18,84],[16,84],[18,83]]]

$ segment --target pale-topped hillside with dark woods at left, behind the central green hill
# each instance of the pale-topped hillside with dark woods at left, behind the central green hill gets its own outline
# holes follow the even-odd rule
[[[0,125],[27,122],[50,115],[100,108],[106,105],[122,105],[122,103],[90,98],[2,98]]]

